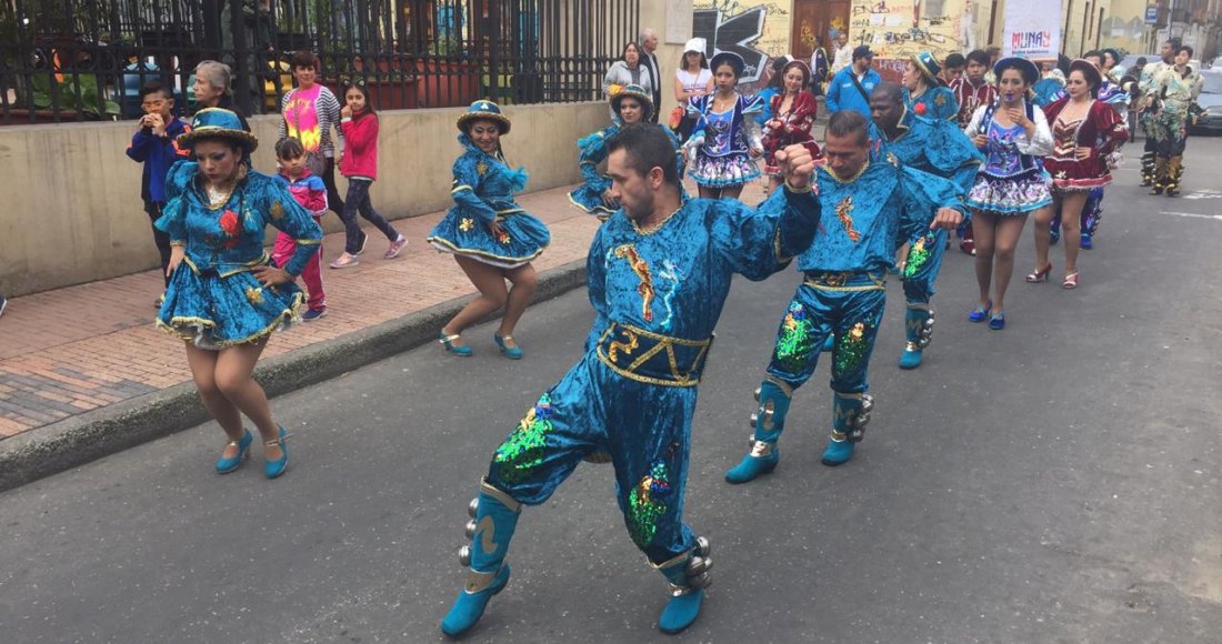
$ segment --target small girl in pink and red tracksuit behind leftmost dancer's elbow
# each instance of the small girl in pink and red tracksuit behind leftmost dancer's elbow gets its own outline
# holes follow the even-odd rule
[[[297,203],[306,209],[314,222],[319,224],[326,213],[326,186],[323,180],[306,167],[306,148],[302,142],[295,138],[282,138],[276,142],[276,161],[280,164],[280,174],[276,175],[288,193],[297,199]],[[302,269],[302,281],[309,291],[306,314],[302,319],[314,321],[326,315],[326,293],[323,291],[323,244],[318,246],[318,252],[310,255]],[[276,233],[276,246],[271,258],[277,266],[286,265],[297,253],[297,242],[285,231]]]

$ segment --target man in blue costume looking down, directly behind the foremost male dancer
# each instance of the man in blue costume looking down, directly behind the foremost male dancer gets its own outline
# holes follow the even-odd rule
[[[755,391],[752,448],[726,472],[730,483],[776,469],[781,458],[776,442],[791,397],[814,373],[829,334],[836,336],[835,398],[822,463],[838,466],[853,457],[873,407],[866,369],[882,321],[887,269],[902,241],[935,227],[953,229],[963,220],[957,185],[903,167],[895,154],[871,155],[869,125],[860,114],[832,115],[824,158],[815,181],[822,210],[819,235],[798,258],[807,279],[781,319],[767,374]]]

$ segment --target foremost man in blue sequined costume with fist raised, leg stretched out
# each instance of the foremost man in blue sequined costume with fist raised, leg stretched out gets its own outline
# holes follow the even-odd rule
[[[467,583],[441,621],[456,637],[510,579],[505,562],[522,505],[539,505],[583,458],[610,455],[633,543],[670,582],[665,633],[695,621],[709,585],[709,541],[682,523],[697,384],[736,273],[763,280],[807,249],[819,222],[814,161],[780,150],[787,188],[759,209],[679,197],[675,145],[653,125],[624,127],[607,176],[622,210],[588,259],[596,313],[582,359],[496,448],[459,552]]]

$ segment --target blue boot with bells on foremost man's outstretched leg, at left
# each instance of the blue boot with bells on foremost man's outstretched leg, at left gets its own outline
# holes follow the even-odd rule
[[[481,480],[479,497],[472,500],[467,511],[473,517],[467,523],[467,538],[472,545],[458,551],[458,560],[470,569],[453,607],[441,620],[441,632],[452,638],[475,626],[488,601],[510,583],[510,565],[505,563],[505,554],[517,529],[522,503]]]

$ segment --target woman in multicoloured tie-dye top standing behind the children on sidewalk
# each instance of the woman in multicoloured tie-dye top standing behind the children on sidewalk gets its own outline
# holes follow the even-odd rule
[[[306,163],[309,169],[323,177],[326,185],[326,205],[335,214],[343,216],[343,199],[335,187],[335,142],[331,141],[331,128],[340,132],[340,100],[326,86],[319,84],[319,60],[313,51],[297,51],[292,59],[293,79],[297,87],[285,94],[280,101],[279,138],[293,137],[306,147]]]

